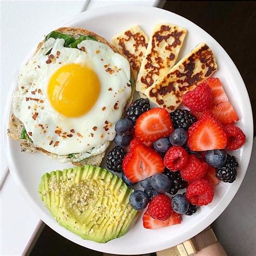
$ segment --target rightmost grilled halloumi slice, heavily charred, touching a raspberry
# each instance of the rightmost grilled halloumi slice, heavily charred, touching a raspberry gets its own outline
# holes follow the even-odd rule
[[[206,43],[200,43],[186,57],[150,86],[145,95],[151,102],[169,112],[177,109],[182,96],[204,82],[217,70],[212,50]]]

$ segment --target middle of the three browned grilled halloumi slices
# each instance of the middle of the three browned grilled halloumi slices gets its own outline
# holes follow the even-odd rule
[[[156,24],[139,70],[136,90],[145,90],[163,77],[175,64],[186,29],[170,23]]]

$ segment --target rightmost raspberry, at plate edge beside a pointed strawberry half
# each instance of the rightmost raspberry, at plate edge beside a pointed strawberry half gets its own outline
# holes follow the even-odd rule
[[[233,124],[228,124],[225,126],[225,130],[228,135],[226,146],[227,150],[237,150],[239,147],[244,145],[246,137],[239,127]]]

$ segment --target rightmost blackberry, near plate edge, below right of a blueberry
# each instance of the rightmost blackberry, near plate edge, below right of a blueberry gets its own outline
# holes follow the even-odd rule
[[[224,182],[233,183],[237,178],[237,158],[227,154],[225,165],[216,169],[216,177]]]

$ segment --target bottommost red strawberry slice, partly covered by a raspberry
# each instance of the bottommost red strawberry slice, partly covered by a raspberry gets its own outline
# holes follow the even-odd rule
[[[178,213],[172,212],[171,216],[166,220],[156,220],[153,219],[149,211],[147,210],[143,215],[143,226],[149,228],[150,230],[157,230],[161,227],[167,227],[171,225],[176,225],[181,223],[181,217]]]

